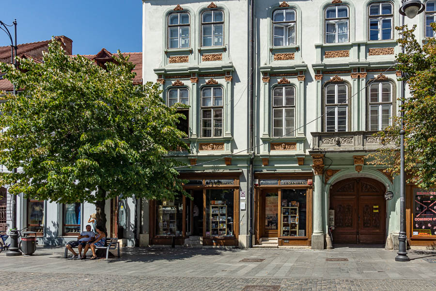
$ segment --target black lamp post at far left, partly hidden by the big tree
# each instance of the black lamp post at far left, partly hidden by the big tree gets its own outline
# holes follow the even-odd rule
[[[11,32],[9,32],[8,27],[14,26],[14,38],[12,38]],[[0,29],[9,36],[9,39],[11,40],[11,64],[14,64],[16,67],[16,60],[14,60],[14,56],[16,56],[16,19],[14,22],[12,22],[11,25],[5,24],[3,21],[0,20]],[[14,95],[16,94],[16,87],[14,85]],[[12,169],[12,173],[16,173],[16,168]],[[16,230],[16,195],[13,195],[12,198],[12,230],[10,233],[11,236],[11,246],[8,249],[8,252],[6,253],[6,256],[21,256],[21,252],[18,248],[18,231]]]

